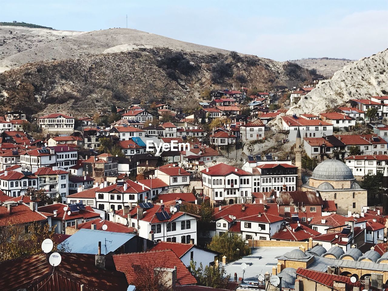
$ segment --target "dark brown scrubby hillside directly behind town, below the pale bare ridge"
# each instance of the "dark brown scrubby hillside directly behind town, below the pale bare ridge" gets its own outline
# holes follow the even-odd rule
[[[211,80],[215,64],[219,68],[217,76],[225,77],[219,84]],[[140,48],[28,63],[5,71],[0,74],[0,110],[20,109],[28,114],[61,111],[85,116],[109,109],[112,104],[128,106],[134,99],[144,103],[169,99],[184,107],[195,103],[193,97],[211,85],[214,89],[239,88],[243,82],[245,86],[267,89],[275,85],[292,87],[311,78],[307,69],[295,64],[247,55],[232,58],[221,53],[177,54],[165,48]]]

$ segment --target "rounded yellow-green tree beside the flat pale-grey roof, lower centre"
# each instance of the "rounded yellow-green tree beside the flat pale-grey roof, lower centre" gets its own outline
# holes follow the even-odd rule
[[[228,262],[239,260],[251,253],[251,249],[242,237],[234,236],[229,232],[225,232],[222,236],[213,236],[208,248],[222,253]]]

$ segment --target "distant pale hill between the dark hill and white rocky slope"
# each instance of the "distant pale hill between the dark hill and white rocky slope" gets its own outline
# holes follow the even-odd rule
[[[317,73],[330,78],[336,71],[339,71],[344,66],[351,64],[353,61],[347,59],[332,59],[332,58],[307,58],[300,60],[293,60],[299,66],[306,69],[316,69]]]

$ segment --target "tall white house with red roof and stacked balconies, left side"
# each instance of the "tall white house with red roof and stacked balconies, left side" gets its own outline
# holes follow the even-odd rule
[[[34,172],[38,177],[39,189],[44,189],[50,198],[62,197],[62,202],[66,202],[69,194],[69,172],[58,168],[38,168]]]

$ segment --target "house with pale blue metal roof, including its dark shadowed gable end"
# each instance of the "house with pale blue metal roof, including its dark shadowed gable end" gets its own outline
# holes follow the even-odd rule
[[[96,246],[99,246],[100,243],[102,255],[145,251],[143,248],[144,239],[142,237],[125,232],[111,231],[109,226],[112,227],[113,224],[113,222],[109,225],[106,224],[106,230],[78,229],[78,231],[59,244],[59,248],[64,247],[68,253],[94,255],[96,253]],[[69,228],[66,230],[70,232]]]

